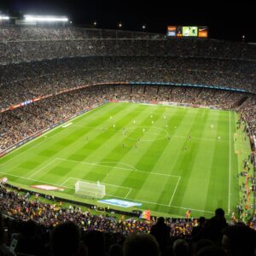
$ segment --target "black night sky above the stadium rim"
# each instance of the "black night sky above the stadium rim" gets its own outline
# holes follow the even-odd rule
[[[235,2],[235,1],[234,1]],[[67,15],[73,24],[92,24],[124,30],[166,33],[167,25],[209,26],[210,38],[256,42],[256,9],[251,3],[227,1],[172,0],[1,0],[0,10],[7,14]]]

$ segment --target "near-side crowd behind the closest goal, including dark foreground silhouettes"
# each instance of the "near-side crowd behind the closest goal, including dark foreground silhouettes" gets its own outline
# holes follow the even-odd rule
[[[39,196],[32,201],[4,186],[0,187],[0,197],[0,211],[7,217],[0,222],[0,255],[4,256],[254,255],[256,231],[244,224],[227,224],[222,209],[209,220],[143,221],[92,215],[79,207],[41,202]],[[201,254],[203,248],[207,252]]]

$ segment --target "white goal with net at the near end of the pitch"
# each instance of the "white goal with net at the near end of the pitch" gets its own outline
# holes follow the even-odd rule
[[[84,181],[77,181],[75,183],[75,193],[92,198],[103,198],[106,195],[105,185],[97,183],[87,183]]]

